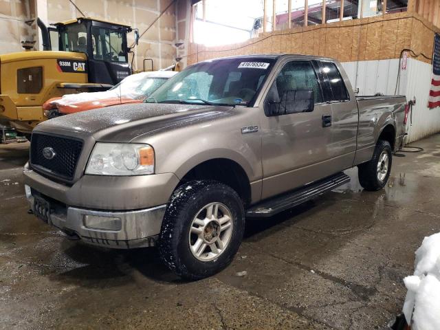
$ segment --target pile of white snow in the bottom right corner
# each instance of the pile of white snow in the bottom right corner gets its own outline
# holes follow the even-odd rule
[[[414,330],[440,329],[440,232],[425,237],[415,252],[415,272],[404,278],[408,289],[406,322]]]

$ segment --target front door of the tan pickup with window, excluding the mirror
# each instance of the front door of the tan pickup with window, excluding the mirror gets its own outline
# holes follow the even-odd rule
[[[263,199],[332,174],[325,162],[331,131],[322,124],[331,104],[323,101],[320,80],[311,61],[289,61],[272,82],[280,97],[287,90],[313,89],[315,105],[311,112],[276,116],[261,109]]]

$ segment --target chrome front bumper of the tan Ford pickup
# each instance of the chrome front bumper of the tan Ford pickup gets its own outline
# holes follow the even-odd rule
[[[25,186],[26,198],[34,210],[35,190]],[[44,196],[41,196],[44,199]],[[47,222],[69,236],[78,236],[85,243],[107,248],[143,248],[155,245],[166,204],[132,211],[98,211],[50,204]]]

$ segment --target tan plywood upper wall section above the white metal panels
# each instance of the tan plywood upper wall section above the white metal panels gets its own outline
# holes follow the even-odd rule
[[[233,45],[205,47],[190,44],[188,65],[224,56],[283,53],[325,56],[341,62],[370,61],[399,58],[404,49],[414,52],[410,57],[418,55],[418,60],[430,63],[434,33],[439,31],[415,12],[385,14],[267,32],[257,39]]]

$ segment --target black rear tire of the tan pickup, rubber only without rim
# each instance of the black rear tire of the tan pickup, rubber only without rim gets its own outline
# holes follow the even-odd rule
[[[379,165],[382,153],[388,154],[388,166],[384,178],[380,179],[377,173],[377,167]],[[390,177],[392,164],[393,150],[391,149],[390,142],[384,140],[377,141],[373,158],[369,162],[358,165],[360,185],[364,187],[365,190],[369,191],[376,191],[384,188],[386,182],[388,181],[388,177]]]

